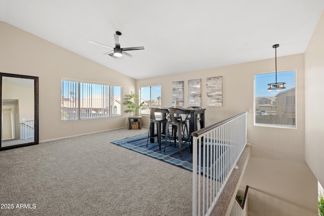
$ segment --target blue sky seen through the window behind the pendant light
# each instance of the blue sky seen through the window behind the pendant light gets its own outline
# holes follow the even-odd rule
[[[275,83],[275,72],[255,75],[255,96],[270,97],[277,95],[280,91],[285,91],[295,87],[295,70],[277,72],[277,82],[284,82],[286,89],[268,90],[269,83]]]

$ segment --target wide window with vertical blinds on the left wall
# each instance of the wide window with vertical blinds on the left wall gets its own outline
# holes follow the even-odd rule
[[[61,120],[121,115],[121,87],[62,81]]]

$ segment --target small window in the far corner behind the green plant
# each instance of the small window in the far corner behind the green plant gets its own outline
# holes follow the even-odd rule
[[[150,115],[150,107],[161,107],[161,86],[141,87],[140,98],[144,101],[140,114]]]

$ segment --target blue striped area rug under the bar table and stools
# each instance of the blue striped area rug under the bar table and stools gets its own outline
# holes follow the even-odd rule
[[[183,169],[192,171],[192,154],[190,152],[189,142],[182,142],[182,157],[180,157],[178,143],[176,143],[176,146],[174,146],[174,142],[171,142],[172,145],[170,145],[170,142],[168,141],[166,146],[166,152],[164,152],[165,139],[162,139],[161,151],[159,151],[158,142],[156,139],[154,143],[148,141],[148,146],[146,147],[147,135],[147,133],[144,133],[141,135],[113,141],[111,143],[138,152],[140,154],[164,161],[166,163],[170,163],[174,166],[179,166]]]

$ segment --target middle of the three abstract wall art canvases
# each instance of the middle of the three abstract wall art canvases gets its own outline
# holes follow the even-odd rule
[[[201,104],[201,79],[188,80],[188,106]]]

